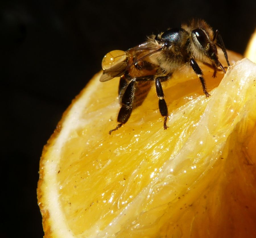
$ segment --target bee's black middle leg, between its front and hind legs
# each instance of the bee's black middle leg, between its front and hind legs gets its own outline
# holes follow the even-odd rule
[[[165,76],[163,76],[163,77],[165,77]],[[163,89],[162,89],[160,79],[161,79],[161,77],[157,77],[155,79],[156,94],[159,98],[159,100],[158,100],[159,111],[160,111],[161,115],[164,117],[164,129],[166,130],[167,129],[166,121],[167,121],[167,117],[168,117],[168,109],[167,109],[166,102],[164,100],[164,92],[163,92]],[[164,79],[165,78],[163,78],[163,80]]]

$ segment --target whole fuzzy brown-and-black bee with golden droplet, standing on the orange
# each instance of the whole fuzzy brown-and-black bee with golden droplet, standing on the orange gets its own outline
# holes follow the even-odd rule
[[[218,40],[218,42],[217,42]],[[155,82],[158,107],[164,117],[164,130],[167,129],[168,108],[164,99],[161,82],[171,78],[175,71],[193,69],[199,77],[203,92],[207,92],[205,78],[197,61],[201,61],[214,69],[213,77],[218,68],[226,73],[218,60],[217,47],[225,56],[228,66],[228,55],[218,30],[215,32],[204,20],[192,20],[190,24],[182,24],[181,28],[171,28],[127,51],[114,50],[106,54],[102,60],[103,74],[101,82],[120,77],[118,97],[121,104],[117,116],[119,123],[113,131],[125,124],[132,110],[142,104],[147,96],[151,82]]]

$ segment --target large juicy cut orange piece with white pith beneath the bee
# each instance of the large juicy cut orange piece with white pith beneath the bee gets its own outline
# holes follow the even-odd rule
[[[256,66],[200,66],[209,98],[193,72],[163,83],[167,130],[152,87],[109,135],[119,80],[94,77],[43,152],[46,237],[256,237]]]

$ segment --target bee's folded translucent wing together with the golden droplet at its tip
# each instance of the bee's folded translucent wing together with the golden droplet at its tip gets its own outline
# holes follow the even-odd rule
[[[103,74],[100,81],[105,82],[122,76],[132,65],[161,49],[162,45],[152,45],[152,42],[144,42],[128,49],[126,52],[121,50],[110,51],[102,60]]]

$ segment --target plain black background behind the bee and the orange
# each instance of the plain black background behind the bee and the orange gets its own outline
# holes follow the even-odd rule
[[[105,53],[193,17],[243,53],[256,25],[255,0],[2,0],[0,13],[0,237],[43,236],[36,200],[43,146]]]

